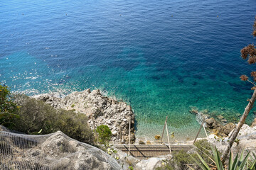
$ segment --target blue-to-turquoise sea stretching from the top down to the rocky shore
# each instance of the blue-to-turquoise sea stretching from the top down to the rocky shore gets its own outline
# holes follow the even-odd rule
[[[160,134],[166,115],[178,139],[193,137],[190,106],[238,120],[252,93],[239,77],[254,69],[240,58],[255,42],[254,0],[16,0],[0,11],[1,83],[28,95],[102,89],[132,105],[139,137]]]

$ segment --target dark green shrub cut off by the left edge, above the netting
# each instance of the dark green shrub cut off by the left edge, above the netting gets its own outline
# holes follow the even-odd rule
[[[12,100],[9,88],[0,85],[0,125],[6,128],[14,126],[14,120],[18,118],[17,111],[18,106]]]

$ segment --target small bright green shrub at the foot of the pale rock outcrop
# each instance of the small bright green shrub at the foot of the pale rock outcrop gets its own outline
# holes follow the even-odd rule
[[[112,132],[110,128],[107,125],[100,125],[97,127],[96,132],[99,137],[99,142],[104,144],[106,142],[110,141],[110,137],[112,135]]]

